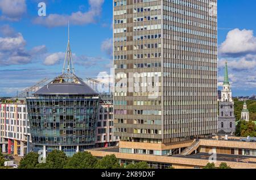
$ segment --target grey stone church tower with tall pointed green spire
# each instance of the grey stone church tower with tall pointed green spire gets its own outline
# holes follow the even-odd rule
[[[218,105],[218,134],[234,134],[236,118],[234,116],[234,101],[228,76],[228,62],[225,63],[225,76],[221,91],[221,101]]]

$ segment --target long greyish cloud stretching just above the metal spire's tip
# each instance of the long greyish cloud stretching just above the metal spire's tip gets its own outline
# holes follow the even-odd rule
[[[104,0],[89,0],[90,9],[87,12],[73,12],[71,15],[49,14],[46,17],[38,17],[34,19],[35,24],[44,25],[46,27],[59,27],[68,24],[84,25],[96,22],[96,17],[101,14],[102,4]]]

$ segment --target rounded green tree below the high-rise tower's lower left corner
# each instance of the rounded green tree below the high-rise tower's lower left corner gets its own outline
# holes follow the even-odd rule
[[[117,157],[115,155],[106,155],[97,163],[98,169],[121,169],[118,163]]]

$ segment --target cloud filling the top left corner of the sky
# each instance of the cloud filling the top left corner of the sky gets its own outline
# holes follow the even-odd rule
[[[0,20],[18,21],[27,11],[25,0],[1,0],[0,10],[2,15]]]

